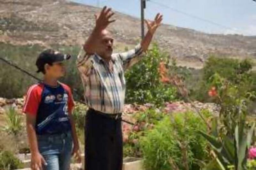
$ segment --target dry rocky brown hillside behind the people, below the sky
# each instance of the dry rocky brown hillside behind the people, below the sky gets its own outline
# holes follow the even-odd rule
[[[0,41],[15,45],[82,44],[94,26],[100,9],[65,0],[0,0]],[[140,39],[140,19],[119,12],[110,30],[117,50]],[[178,63],[200,67],[212,54],[256,59],[256,36],[206,34],[162,25],[154,39]]]

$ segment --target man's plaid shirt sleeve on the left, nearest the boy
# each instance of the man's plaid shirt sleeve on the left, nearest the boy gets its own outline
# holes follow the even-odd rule
[[[82,75],[87,75],[88,71],[92,68],[92,62],[90,60],[92,56],[86,54],[83,47],[80,49],[76,59],[76,66]]]

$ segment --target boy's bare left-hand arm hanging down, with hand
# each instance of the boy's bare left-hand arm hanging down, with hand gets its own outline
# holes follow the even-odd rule
[[[28,143],[29,143],[30,152],[31,152],[31,163],[30,163],[31,169],[36,169],[36,170],[42,169],[42,164],[47,165],[47,163],[38,150],[36,130],[35,130],[36,116],[27,113],[26,122],[27,122]]]

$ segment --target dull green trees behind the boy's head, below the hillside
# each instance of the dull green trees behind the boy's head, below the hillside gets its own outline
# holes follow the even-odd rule
[[[61,82],[69,85],[73,91],[75,99],[83,99],[83,86],[76,68],[76,56],[80,47],[52,45],[51,48],[72,55],[66,64],[66,75],[60,79]],[[36,58],[45,49],[40,45],[14,46],[0,42],[1,57],[11,60],[16,65],[34,74],[38,78],[43,78],[43,74],[36,73]],[[0,96],[5,98],[17,98],[26,94],[28,87],[37,82],[20,70],[17,70],[6,63],[0,61]]]

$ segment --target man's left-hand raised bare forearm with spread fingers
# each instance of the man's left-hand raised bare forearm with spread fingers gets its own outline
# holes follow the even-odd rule
[[[106,6],[104,6],[99,15],[94,15],[96,20],[95,27],[93,28],[92,33],[84,43],[84,51],[87,53],[87,55],[92,55],[95,53],[95,48],[98,45],[101,31],[107,28],[110,23],[116,21],[110,20],[110,18],[114,14],[115,13],[111,11],[111,8],[107,8]]]

